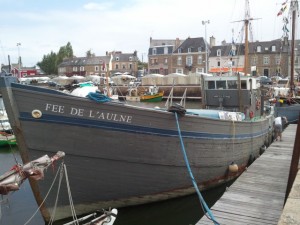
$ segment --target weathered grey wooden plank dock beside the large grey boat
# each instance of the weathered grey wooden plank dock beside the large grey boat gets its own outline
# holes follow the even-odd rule
[[[274,141],[211,207],[220,225],[300,224],[300,190],[296,193],[294,190],[299,189],[299,172],[290,192],[292,196],[284,207],[296,129],[297,124],[290,124],[282,134],[283,141]],[[284,216],[284,208],[287,208],[287,216]],[[289,214],[292,211],[294,214]],[[292,223],[279,223],[287,219]],[[202,224],[214,223],[203,216],[196,225]]]

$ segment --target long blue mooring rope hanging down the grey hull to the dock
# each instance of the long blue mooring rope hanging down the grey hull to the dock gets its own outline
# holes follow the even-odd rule
[[[192,170],[191,170],[191,167],[190,167],[190,163],[189,163],[189,160],[188,160],[188,158],[187,158],[186,151],[185,151],[185,148],[184,148],[182,136],[181,136],[181,131],[180,131],[180,127],[179,127],[179,122],[178,122],[177,112],[175,112],[175,118],[176,118],[177,130],[178,130],[178,135],[179,135],[180,144],[181,144],[181,150],[182,150],[182,154],[183,154],[183,156],[184,156],[184,161],[185,161],[186,167],[187,167],[187,169],[188,169],[188,171],[189,171],[190,177],[191,177],[191,179],[192,179],[192,183],[193,183],[193,185],[194,185],[194,188],[196,189],[196,192],[197,192],[198,197],[199,197],[199,199],[200,199],[200,203],[201,203],[201,205],[204,206],[206,212],[208,213],[208,215],[209,215],[208,218],[211,219],[211,220],[214,222],[215,225],[220,225],[220,224],[216,221],[214,215],[212,214],[212,212],[211,212],[211,210],[209,209],[209,207],[207,206],[207,204],[206,204],[204,198],[202,197],[201,192],[199,191],[199,188],[198,188],[198,186],[197,186],[197,182],[196,182],[196,180],[195,180],[195,178],[194,178],[194,175],[193,175],[193,173],[192,173]],[[206,214],[206,213],[205,213],[205,214]]]

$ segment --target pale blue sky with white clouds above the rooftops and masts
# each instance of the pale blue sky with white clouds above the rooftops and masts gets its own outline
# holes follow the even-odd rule
[[[283,2],[249,0],[250,16],[257,18],[250,40],[281,38],[277,13]],[[7,65],[8,55],[17,63],[20,55],[28,67],[68,42],[77,57],[88,50],[96,56],[136,50],[143,62],[150,37],[241,42],[243,23],[233,21],[245,18],[245,0],[0,0],[0,5],[0,63]]]

